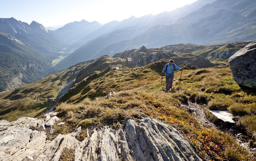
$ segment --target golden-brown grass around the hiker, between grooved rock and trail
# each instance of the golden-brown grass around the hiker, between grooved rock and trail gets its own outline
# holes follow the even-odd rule
[[[181,108],[181,103],[190,100],[219,109],[243,104],[252,112],[256,102],[255,93],[250,95],[252,90],[238,86],[232,79],[229,67],[185,70],[182,77],[184,83],[179,85],[179,81],[176,81],[174,92],[164,93],[161,67],[161,62],[154,62],[142,68],[109,68],[94,78],[87,77],[77,83],[73,88],[77,95],[57,107],[60,112],[58,116],[67,124],[65,128],[57,127],[54,135],[67,134],[81,125],[84,131],[78,139],[83,139],[87,128],[102,125],[122,128],[128,118],[139,121],[144,115],[150,115],[173,125],[187,136],[201,157],[215,160],[250,159],[246,150],[229,135],[201,127],[195,118]],[[176,80],[179,74],[175,74]],[[109,91],[115,91],[116,95],[104,99]],[[241,93],[244,97],[241,97]],[[250,101],[247,101],[248,97]],[[254,117],[250,112],[248,114]],[[247,118],[241,117],[239,122],[244,119]],[[253,130],[243,125],[248,132]]]

